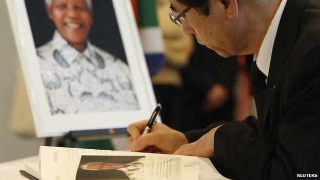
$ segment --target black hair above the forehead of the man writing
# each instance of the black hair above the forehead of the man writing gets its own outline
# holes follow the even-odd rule
[[[198,13],[208,16],[210,14],[210,0],[177,0],[179,3],[194,8]]]

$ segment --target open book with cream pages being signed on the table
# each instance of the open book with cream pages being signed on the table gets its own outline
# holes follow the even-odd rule
[[[40,147],[38,169],[26,164],[25,171],[59,180],[227,179],[203,157],[47,146]]]

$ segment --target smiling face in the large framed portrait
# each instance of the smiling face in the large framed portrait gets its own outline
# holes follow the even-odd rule
[[[85,0],[52,0],[46,8],[56,29],[70,44],[86,41],[93,20]]]

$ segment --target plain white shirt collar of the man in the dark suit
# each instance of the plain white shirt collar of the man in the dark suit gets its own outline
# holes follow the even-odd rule
[[[278,10],[276,11],[272,19],[272,22],[269,26],[269,29],[264,38],[264,41],[261,44],[259,52],[254,53],[253,61],[256,61],[256,64],[259,70],[261,70],[267,77],[268,77],[269,68],[270,68],[271,55],[272,55],[275,36],[278,30],[280,19],[285,9],[286,3],[287,3],[287,0],[281,1],[278,7]]]

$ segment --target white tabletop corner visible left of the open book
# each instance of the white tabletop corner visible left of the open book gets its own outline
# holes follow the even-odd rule
[[[24,170],[26,163],[37,163],[37,162],[38,162],[38,155],[17,159],[15,161],[1,163],[0,179],[28,180],[28,178],[20,174],[19,170]]]

